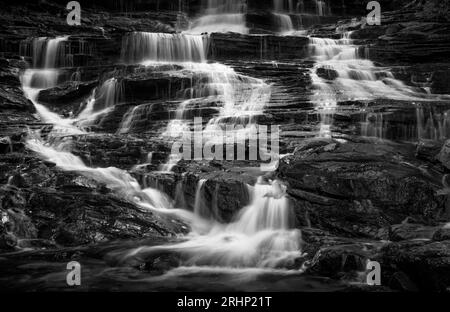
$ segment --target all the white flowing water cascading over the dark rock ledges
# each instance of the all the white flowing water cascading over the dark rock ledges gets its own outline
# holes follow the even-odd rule
[[[132,32],[124,36],[121,52],[124,64],[149,69],[168,65],[173,68],[170,74],[176,72],[190,78],[191,85],[183,90],[177,110],[171,115],[174,117],[160,133],[163,142],[177,141],[186,133],[192,133],[193,118],[189,112],[205,107],[214,108],[217,113],[205,116],[207,120],[200,125],[203,144],[217,140],[224,142],[226,138],[217,133],[226,127],[236,127],[233,136],[245,136],[270,104],[273,90],[269,83],[238,73],[231,66],[208,61],[209,38],[203,33],[248,33],[245,3],[209,0],[203,4],[203,15],[184,33]],[[318,16],[330,13],[326,1],[317,0],[315,4]],[[293,31],[289,14],[303,13],[303,10],[304,5],[295,6],[293,1],[274,1],[273,14],[280,32]],[[304,257],[302,235],[296,228],[293,207],[283,181],[259,177],[254,185],[246,185],[250,195],[248,205],[242,207],[232,221],[225,223],[216,218],[217,204],[205,200],[206,179],[197,182],[194,209],[189,211],[185,200],[181,199],[182,184],[177,185],[177,196],[171,199],[155,188],[142,187],[125,170],[92,168],[71,153],[71,137],[89,135],[89,127],[99,117],[122,104],[124,90],[123,77],[119,74],[117,77],[105,77],[86,100],[84,109],[72,118],[63,118],[39,103],[42,90],[62,82],[60,70],[66,64],[63,47],[68,39],[37,38],[33,41],[33,68],[24,72],[22,85],[42,121],[52,125],[50,136],[53,139],[45,142],[39,133],[30,133],[27,148],[62,170],[77,172],[105,184],[117,196],[144,211],[173,215],[191,228],[188,235],[178,237],[170,244],[133,246],[110,256],[121,263],[145,263],[161,254],[177,259],[178,266],[152,281],[164,278],[176,280],[180,276],[199,272],[234,276],[300,274],[302,269],[299,263]],[[321,117],[318,136],[332,136],[333,115],[339,109],[340,102],[439,100],[420,88],[407,86],[395,79],[388,68],[377,67],[369,59],[360,57],[360,47],[351,40],[351,33],[344,33],[339,40],[314,37],[309,40],[309,53],[314,61],[309,72],[313,89],[310,101]],[[147,109],[146,103],[131,107],[124,114],[117,135],[132,133],[136,123],[148,113]],[[377,124],[383,124],[382,117],[377,117]],[[420,118],[424,119],[423,114]],[[364,131],[366,135],[383,136],[382,126]],[[436,137],[439,135],[435,133]],[[148,158],[151,162],[152,157]],[[169,155],[160,171],[173,174],[172,170],[180,160],[177,154]]]

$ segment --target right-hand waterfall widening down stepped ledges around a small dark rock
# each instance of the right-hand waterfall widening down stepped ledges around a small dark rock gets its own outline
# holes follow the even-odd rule
[[[420,90],[395,79],[392,72],[359,57],[359,48],[344,33],[342,39],[310,38],[311,101],[321,115],[321,136],[330,136],[332,115],[339,102],[379,98],[420,101],[429,98]],[[379,132],[379,131],[378,131]]]

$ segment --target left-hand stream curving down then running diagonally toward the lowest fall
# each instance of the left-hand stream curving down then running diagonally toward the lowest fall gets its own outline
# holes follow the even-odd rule
[[[59,64],[58,54],[55,53],[55,51],[59,49],[58,45],[64,42],[64,40],[67,40],[67,37],[48,41],[51,42],[51,44],[47,46],[45,53],[46,65],[55,66],[55,64]],[[114,167],[89,168],[79,157],[70,153],[68,150],[68,147],[70,147],[70,137],[67,135],[85,134],[84,131],[77,128],[74,124],[81,119],[83,120],[80,123],[86,121],[84,117],[92,118],[93,115],[96,115],[96,113],[94,113],[96,90],[93,91],[85,110],[80,114],[78,119],[61,118],[58,114],[51,112],[37,101],[37,97],[41,90],[57,85],[58,76],[58,69],[28,69],[22,76],[21,80],[25,95],[33,102],[42,120],[53,124],[52,136],[54,137],[52,144],[50,145],[44,143],[38,135],[30,133],[26,143],[27,148],[41,155],[44,159],[55,163],[56,166],[63,170],[77,171],[96,181],[104,183],[117,194],[120,194],[142,208],[179,214],[183,218],[190,219],[190,213],[187,211],[172,209],[170,201],[164,194],[154,189],[141,189],[136,179],[131,177],[126,171]],[[103,100],[100,101],[103,105],[101,112],[104,111],[104,109],[108,109],[111,105],[115,105],[121,97],[121,88],[118,87],[118,85],[120,84],[117,82],[117,79],[111,78],[105,81],[100,88],[99,97],[103,98]],[[59,138],[58,135],[61,134],[61,131],[64,132],[64,135]]]

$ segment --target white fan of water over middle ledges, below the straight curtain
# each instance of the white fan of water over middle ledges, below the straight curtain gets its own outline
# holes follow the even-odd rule
[[[187,132],[192,131],[192,120],[185,117],[187,110],[193,105],[220,103],[218,115],[211,118],[203,129],[196,129],[202,132],[203,146],[226,142],[227,137],[218,136],[217,133],[218,130],[226,130],[227,126],[236,127],[234,132],[227,131],[229,140],[247,137],[256,124],[256,117],[264,112],[270,101],[270,85],[260,79],[237,74],[234,69],[222,64],[191,63],[183,66],[201,77],[201,83],[193,86],[189,92],[193,98],[179,105],[176,118],[169,122],[163,136],[182,140]],[[134,110],[136,112],[138,111]],[[138,116],[128,118],[139,119]],[[180,160],[179,154],[172,154],[161,170],[170,171]]]

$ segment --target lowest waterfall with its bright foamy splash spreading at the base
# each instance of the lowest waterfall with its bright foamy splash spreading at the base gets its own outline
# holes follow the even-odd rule
[[[145,257],[161,251],[180,254],[182,265],[226,270],[274,269],[292,265],[302,257],[301,233],[291,221],[293,211],[286,187],[279,181],[261,179],[251,189],[251,203],[230,224],[197,220],[203,232],[192,233],[186,242],[171,246],[140,247],[125,258]],[[205,224],[209,224],[207,227]]]

